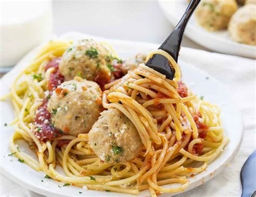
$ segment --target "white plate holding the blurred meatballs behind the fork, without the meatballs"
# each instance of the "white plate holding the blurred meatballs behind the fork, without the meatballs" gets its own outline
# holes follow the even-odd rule
[[[159,0],[159,5],[166,18],[172,25],[176,26],[185,12],[188,2],[187,0]],[[191,17],[190,22],[187,24],[185,35],[194,42],[213,51],[256,58],[256,46],[234,42],[228,35],[227,30],[207,31],[198,25],[194,16]]]

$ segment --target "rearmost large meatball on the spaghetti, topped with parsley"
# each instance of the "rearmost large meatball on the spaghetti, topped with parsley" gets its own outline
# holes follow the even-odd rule
[[[92,39],[82,39],[72,44],[63,54],[59,63],[59,71],[65,80],[75,76],[87,80],[100,78],[110,80],[108,57],[111,53],[101,44]]]

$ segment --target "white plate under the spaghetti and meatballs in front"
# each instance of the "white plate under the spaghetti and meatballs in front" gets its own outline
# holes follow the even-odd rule
[[[69,33],[69,35],[63,38],[89,38],[91,36],[83,36],[77,33]],[[122,40],[108,40],[97,38],[97,40],[105,40],[110,43],[121,58],[127,58],[135,55],[139,51],[146,51],[151,49],[157,49],[157,44],[129,42]],[[1,95],[8,93],[8,89],[17,76],[20,70],[26,66],[38,49],[31,51],[25,56],[21,62],[15,67],[14,70],[6,74],[1,80]],[[209,76],[207,73],[197,69],[196,67],[187,64],[183,61],[183,56],[179,58],[179,64],[183,74],[183,80],[191,87],[192,91],[199,96],[204,95],[204,99],[211,103],[217,104],[221,107],[221,119],[223,120],[225,135],[230,138],[230,142],[225,147],[225,150],[215,159],[206,169],[206,171],[197,174],[193,178],[190,178],[190,186],[186,189],[192,189],[203,184],[205,181],[213,178],[214,175],[219,173],[225,165],[227,165],[234,158],[242,140],[242,120],[241,114],[238,109],[238,105],[233,102],[232,96],[224,85],[219,81]],[[84,190],[82,188],[68,186],[59,188],[58,185],[63,185],[61,182],[57,182],[51,179],[45,179],[43,172],[36,172],[26,164],[22,164],[17,161],[16,157],[8,157],[10,154],[9,139],[12,133],[14,133],[13,127],[4,127],[4,123],[10,123],[14,119],[14,111],[9,101],[0,102],[1,104],[1,172],[8,178],[17,182],[32,191],[35,191],[44,195],[79,195],[79,192],[83,192],[82,195],[86,196],[134,196],[127,194],[119,194],[114,192],[102,192]],[[22,151],[31,152],[29,147],[22,146]],[[33,155],[33,154],[32,154]],[[35,155],[33,155],[35,157]],[[12,160],[12,161],[10,161]],[[41,182],[43,180],[44,182]],[[138,196],[149,196],[148,191],[140,192]],[[170,194],[163,194],[163,196],[170,196]]]

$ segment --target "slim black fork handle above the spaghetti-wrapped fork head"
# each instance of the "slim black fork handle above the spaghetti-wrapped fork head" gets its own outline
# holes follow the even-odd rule
[[[169,53],[176,62],[178,61],[179,50],[181,40],[183,38],[183,33],[185,31],[187,22],[189,21],[192,13],[197,8],[197,5],[200,3],[200,0],[191,0],[190,4],[187,6],[187,9],[177,24],[176,28],[171,32],[171,34],[166,38],[163,44],[158,49],[164,50]]]

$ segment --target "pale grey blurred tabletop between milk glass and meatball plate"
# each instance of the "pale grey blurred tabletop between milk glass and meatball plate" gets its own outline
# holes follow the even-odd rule
[[[158,1],[154,0],[53,0],[53,22],[53,32],[57,35],[79,31],[106,38],[152,43],[163,42],[173,30]],[[200,48],[186,38],[183,45]]]

